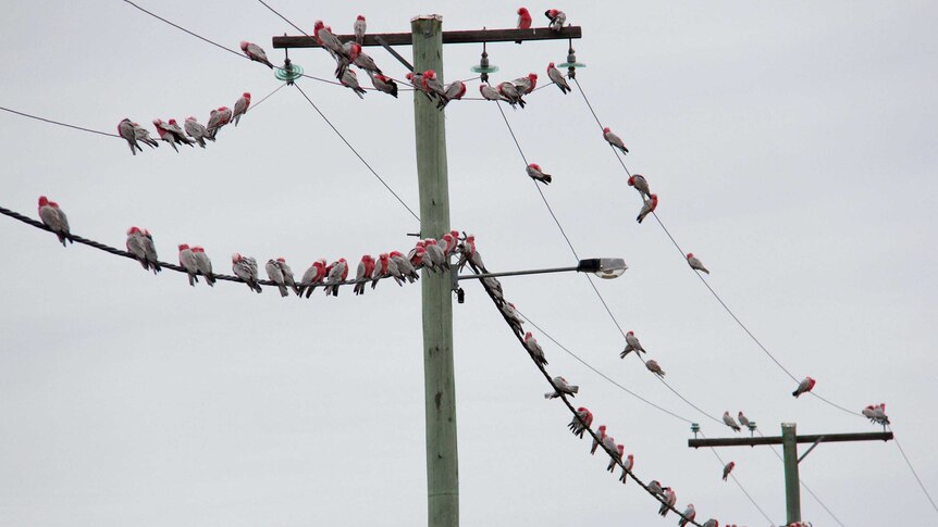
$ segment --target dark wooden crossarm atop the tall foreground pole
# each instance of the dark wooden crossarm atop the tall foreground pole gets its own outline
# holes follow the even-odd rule
[[[336,35],[340,40],[347,42],[355,40],[355,35]],[[361,46],[382,46],[378,38],[383,39],[388,46],[410,46],[414,35],[411,33],[374,33],[365,35]],[[570,38],[583,38],[583,28],[580,26],[567,26],[559,32],[546,27],[533,29],[469,29],[461,32],[443,32],[443,43],[482,43],[482,42],[514,42],[516,40],[567,40]],[[307,36],[282,36],[273,37],[273,47],[282,48],[321,48],[314,38]]]

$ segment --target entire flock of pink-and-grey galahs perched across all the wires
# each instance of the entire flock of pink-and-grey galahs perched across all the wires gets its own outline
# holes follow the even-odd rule
[[[547,10],[545,16],[550,20],[548,27],[552,30],[559,30],[566,23],[566,14],[559,10]],[[532,18],[527,9],[518,10],[518,28],[527,29],[531,27]],[[358,84],[358,77],[351,70],[351,65],[359,67],[366,72],[372,81],[372,86],[385,93],[397,97],[397,85],[391,77],[385,76],[367,53],[361,50],[361,41],[366,34],[366,20],[358,15],[354,24],[355,40],[343,43],[336,37],[329,26],[325,26],[322,21],[317,21],[313,27],[313,38],[322,46],[336,61],[335,77],[338,81],[355,91],[358,97],[362,97],[365,89]],[[520,42],[518,42],[520,43]],[[240,42],[242,51],[252,61],[260,62],[273,68],[274,65],[268,60],[263,49],[251,42]],[[547,78],[555,84],[565,95],[570,91],[564,75],[555,67],[554,63],[547,66]],[[418,91],[421,91],[428,99],[435,101],[441,110],[453,100],[459,100],[467,91],[466,84],[461,80],[455,80],[448,85],[443,85],[437,78],[433,70],[428,70],[422,73],[408,73],[407,80]],[[534,73],[528,74],[526,77],[519,77],[511,81],[504,81],[496,86],[481,84],[479,91],[482,97],[490,101],[507,102],[513,108],[524,108],[527,101],[523,96],[531,93],[538,84],[538,75]],[[219,130],[230,123],[237,126],[240,117],[247,112],[250,106],[250,93],[245,92],[234,104],[234,109],[220,106],[212,110],[207,125],[198,123],[196,117],[186,118],[184,126],[181,128],[174,118],[163,122],[159,118],[153,120],[153,125],[157,128],[159,138],[162,141],[170,143],[174,150],[178,152],[178,145],[188,145],[194,147],[198,145],[206,148],[206,141],[214,141]],[[124,138],[131,152],[136,155],[137,151],[143,151],[139,142],[143,142],[151,148],[156,148],[159,143],[150,137],[149,131],[139,124],[124,118],[118,125],[119,135]],[[608,127],[603,129],[603,138],[614,148],[621,151],[622,154],[628,154],[629,150],[622,139],[613,133]],[[540,165],[531,163],[527,166],[528,176],[544,185],[553,180],[551,174],[545,173]],[[652,212],[655,211],[658,204],[658,197],[651,192],[647,179],[641,174],[634,174],[629,177],[628,185],[634,187],[642,198],[642,208],[637,216],[638,223]],[[71,241],[71,233],[69,219],[65,213],[61,210],[58,203],[50,201],[47,197],[39,198],[39,218],[41,222],[54,233],[59,241],[63,246]],[[152,235],[145,228],[136,226],[127,230],[126,238],[127,252],[133,254],[144,269],[159,273],[161,271],[160,262],[157,258],[157,249],[153,243]],[[289,296],[292,290],[297,297],[309,298],[312,291],[323,286],[326,296],[338,296],[338,287],[346,284],[355,284],[354,293],[365,294],[366,285],[371,284],[374,289],[378,283],[383,278],[393,278],[398,286],[404,284],[412,284],[420,278],[418,271],[427,268],[433,273],[449,272],[449,260],[452,256],[458,255],[456,263],[461,269],[467,263],[470,263],[473,268],[487,273],[482,262],[479,251],[476,249],[476,238],[473,235],[462,235],[460,237],[457,230],[452,230],[444,234],[439,240],[427,238],[419,240],[414,249],[407,255],[399,251],[391,251],[381,253],[378,259],[370,254],[365,254],[358,264],[355,275],[355,280],[346,281],[348,278],[348,262],[344,258],[326,263],[326,260],[320,259],[303,274],[300,281],[296,281],[293,271],[287,265],[285,259],[268,260],[264,269],[268,278],[274,283],[282,297]],[[178,244],[178,261],[180,266],[186,272],[189,285],[195,286],[201,276],[206,284],[213,286],[215,283],[212,263],[206,254],[205,249],[199,246],[189,247],[187,243]],[[693,255],[687,254],[688,264],[691,268],[709,274],[709,271],[703,263]],[[234,275],[247,284],[248,288],[256,292],[262,292],[262,288],[258,283],[258,264],[254,258],[243,256],[239,253],[232,255],[232,271]],[[547,364],[544,355],[544,350],[538,343],[538,340],[531,331],[524,332],[521,325],[523,318],[518,313],[515,304],[504,299],[504,292],[501,283],[494,277],[481,279],[485,289],[495,300],[505,319],[508,321],[511,329],[521,338],[524,348],[530,353],[531,357],[539,366]],[[644,347],[635,337],[634,331],[626,334],[626,348],[620,352],[620,359],[625,359],[630,352],[646,353]],[[650,372],[664,377],[665,372],[655,360],[645,362],[645,366]],[[553,392],[545,393],[546,399],[555,399],[563,396],[576,397],[579,392],[579,387],[570,385],[564,377],[554,377],[552,384],[555,388]],[[809,392],[814,388],[815,380],[811,377],[805,377],[792,392],[792,396],[798,398],[802,393]],[[886,404],[868,405],[862,414],[871,422],[886,426],[890,424],[889,417],[886,415]],[[740,411],[738,414],[739,423],[729,414],[724,412],[724,423],[735,431],[740,431],[742,426],[749,427],[750,430],[755,430],[755,424]],[[575,436],[583,438],[584,432],[593,423],[593,414],[585,407],[577,409],[577,413],[568,427]],[[625,447],[616,444],[615,439],[606,432],[606,426],[601,425],[597,428],[597,439],[594,438],[590,449],[591,454],[595,454],[596,449],[602,446],[610,455],[610,461],[607,469],[614,472],[615,466],[621,463],[624,470],[619,479],[625,484],[627,475],[634,466],[634,456],[629,454],[625,456]],[[724,466],[723,480],[726,481],[730,473],[735,468],[736,463],[729,462]],[[649,490],[657,495],[663,505],[658,514],[666,516],[670,507],[677,502],[677,493],[671,487],[662,486],[659,481],[652,480],[649,484]],[[696,516],[696,511],[693,504],[689,504],[684,510],[679,526],[683,527],[689,522],[692,522]],[[809,524],[791,524],[792,527],[807,526]],[[719,523],[716,519],[708,519],[703,524],[704,527],[718,527]],[[728,526],[735,527],[735,526]]]

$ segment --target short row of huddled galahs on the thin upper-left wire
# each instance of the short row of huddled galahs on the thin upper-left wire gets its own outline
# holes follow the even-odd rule
[[[242,45],[246,43],[242,42]],[[189,147],[198,145],[201,148],[206,148],[206,141],[214,142],[215,136],[222,127],[229,123],[234,123],[237,126],[242,116],[247,112],[248,106],[250,106],[250,93],[245,91],[235,101],[234,110],[227,106],[219,106],[218,110],[212,110],[209,114],[207,125],[202,125],[196,117],[189,116],[182,128],[174,118],[165,123],[160,118],[155,118],[153,126],[157,127],[160,140],[170,143],[176,152],[180,151],[177,145],[188,145]],[[150,148],[160,146],[160,143],[150,137],[149,130],[126,117],[118,123],[118,135],[127,141],[127,146],[131,147],[131,153],[134,155],[137,154],[138,150],[140,152],[144,151],[140,142]]]

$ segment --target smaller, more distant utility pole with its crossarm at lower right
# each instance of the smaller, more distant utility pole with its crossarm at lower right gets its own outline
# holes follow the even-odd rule
[[[753,427],[755,429],[755,427]],[[762,447],[781,444],[785,464],[785,510],[787,522],[791,525],[801,522],[801,480],[798,477],[798,464],[804,460],[818,444],[842,441],[888,441],[892,439],[891,431],[863,434],[825,434],[823,436],[799,436],[794,423],[781,424],[780,437],[752,437],[727,439],[688,439],[688,447]],[[812,443],[801,457],[798,456],[798,443]]]

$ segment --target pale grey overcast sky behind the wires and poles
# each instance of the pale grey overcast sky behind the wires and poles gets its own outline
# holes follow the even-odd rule
[[[257,2],[141,2],[227,47],[296,32]],[[511,27],[514,4],[273,4],[304,28],[409,30],[440,13],[446,29]],[[528,4],[536,24],[555,5]],[[624,137],[630,170],[661,197],[678,242],[792,373],[859,411],[886,402],[893,429],[938,493],[935,203],[938,52],[934,2],[570,2],[579,72],[600,118]],[[309,30],[309,29],[308,29]],[[234,58],[121,1],[8,2],[0,18],[0,104],[106,131],[127,116],[201,122],[279,86]],[[545,80],[567,42],[489,47],[502,71]],[[399,49],[410,57],[407,47]],[[480,46],[445,49],[447,80],[473,76]],[[372,57],[393,76],[403,67]],[[295,50],[307,73],[333,68]],[[366,79],[363,79],[367,83]],[[301,81],[320,109],[412,208],[418,190],[409,92],[398,100]],[[478,83],[470,86],[476,95]],[[876,431],[793,382],[721,310],[654,222],[576,91],[548,87],[508,112],[582,256],[622,256],[597,283],[666,379],[709,415],[739,410],[766,435]],[[570,265],[572,256],[494,103],[446,111],[453,227],[474,233],[491,269]],[[198,243],[230,272],[238,251],[313,260],[407,250],[419,226],[322,122],[283,89],[207,150],[163,145],[129,155],[120,139],[0,114],[0,204],[36,214],[47,195],[74,233],[123,247],[148,228],[160,256]],[[420,288],[383,283],[363,298],[281,299],[244,285],[147,274],[86,246],[0,218],[0,524],[387,525],[425,523]],[[604,374],[708,437],[733,432],[688,406],[641,364],[582,276],[503,280],[505,294]],[[462,525],[665,525],[656,502],[622,486],[565,428],[481,287],[454,306]],[[635,456],[644,480],[671,485],[699,518],[767,525],[689,426],[612,386],[534,331],[550,372]],[[785,519],[782,467],[766,448],[725,449],[735,474]],[[802,478],[844,524],[926,525],[931,509],[893,443],[823,444]],[[803,517],[835,520],[807,493]],[[667,523],[676,522],[669,515]]]

